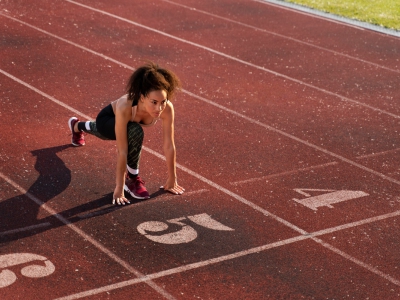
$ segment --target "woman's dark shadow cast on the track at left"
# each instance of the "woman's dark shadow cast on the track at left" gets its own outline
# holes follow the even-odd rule
[[[39,172],[39,177],[26,194],[0,201],[0,246],[50,228],[80,221],[82,216],[78,215],[88,211],[91,213],[84,218],[110,213],[123,207],[111,205],[112,193],[109,193],[57,215],[39,219],[40,206],[61,194],[71,183],[71,171],[57,155],[70,147],[73,146],[62,145],[31,152],[36,157],[35,169]]]

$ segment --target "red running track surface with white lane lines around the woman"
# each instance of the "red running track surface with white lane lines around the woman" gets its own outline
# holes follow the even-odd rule
[[[400,297],[400,39],[245,0],[3,0],[0,13],[1,299]],[[158,190],[156,126],[141,160],[152,198],[116,207],[115,145],[74,148],[66,123],[95,117],[148,59],[184,84],[187,192]],[[150,221],[169,228],[141,234]],[[185,243],[147,238],[188,228]],[[33,262],[6,255],[22,253],[54,271],[21,274]]]

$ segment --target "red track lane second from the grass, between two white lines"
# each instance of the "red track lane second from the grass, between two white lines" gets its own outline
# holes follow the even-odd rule
[[[113,15],[131,19],[128,2],[121,0],[119,3],[127,7],[127,12]],[[145,15],[154,17],[137,17],[135,22],[271,72],[283,74],[288,80],[292,78],[387,111],[397,111],[395,101],[400,94],[395,88],[399,85],[396,72],[379,69],[346,57],[337,57],[321,49],[287,41],[281,37],[265,36],[256,30],[229,24],[226,20],[201,15],[195,10],[177,8],[168,5],[169,3],[162,5],[162,3],[158,2],[158,11],[163,11],[166,16],[171,16],[174,12],[180,18],[161,17],[148,9]],[[98,4],[86,5],[85,7],[96,9]],[[103,4],[101,7],[102,12],[114,11],[111,5]],[[329,31],[326,29],[325,33],[328,34]],[[381,92],[383,89],[384,97]]]

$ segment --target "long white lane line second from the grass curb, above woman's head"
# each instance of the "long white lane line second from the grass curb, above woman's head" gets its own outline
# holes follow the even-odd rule
[[[238,62],[238,63],[241,63],[241,64],[244,64],[244,65],[247,65],[247,66],[256,68],[256,69],[261,70],[261,71],[263,71],[263,72],[270,73],[270,74],[273,74],[273,75],[278,76],[278,77],[281,77],[281,78],[285,78],[285,79],[287,79],[287,80],[296,82],[296,83],[298,83],[298,84],[300,84],[300,85],[304,85],[304,86],[307,86],[307,87],[309,87],[309,88],[311,88],[311,89],[314,89],[314,90],[317,90],[317,91],[319,91],[319,92],[325,93],[325,94],[327,94],[327,95],[333,96],[333,97],[335,97],[335,98],[339,98],[341,101],[353,103],[353,104],[356,104],[356,105],[359,105],[359,106],[363,106],[363,107],[369,108],[369,109],[371,109],[371,110],[373,110],[373,111],[376,111],[376,112],[379,112],[379,113],[382,113],[382,114],[391,116],[391,117],[396,118],[396,119],[400,119],[400,116],[399,116],[399,115],[393,114],[393,113],[388,112],[388,111],[386,111],[386,110],[376,108],[376,107],[374,107],[374,106],[372,106],[372,105],[369,105],[369,104],[366,104],[366,103],[362,103],[362,102],[359,102],[359,101],[354,100],[354,99],[350,99],[350,98],[348,98],[348,97],[345,97],[345,96],[336,94],[336,93],[334,93],[334,92],[328,91],[328,90],[326,90],[326,89],[324,89],[324,88],[319,88],[319,87],[317,87],[317,86],[314,86],[314,85],[312,85],[312,84],[306,83],[306,82],[304,82],[304,81],[301,81],[301,80],[292,78],[292,77],[290,77],[290,76],[287,76],[287,75],[284,75],[284,74],[275,72],[275,71],[273,71],[273,70],[264,68],[264,67],[259,66],[259,65],[255,65],[255,64],[253,64],[253,63],[250,63],[250,62],[247,62],[247,61],[245,61],[245,60],[239,59],[239,58],[237,58],[237,57],[234,57],[234,56],[225,54],[225,53],[220,52],[220,51],[217,51],[217,50],[214,50],[214,49],[212,49],[212,48],[205,47],[205,46],[203,46],[203,45],[190,42],[190,41],[188,41],[188,40],[185,40],[185,39],[179,38],[179,37],[177,37],[177,36],[174,36],[174,35],[172,35],[172,34],[163,32],[163,31],[161,31],[161,30],[157,30],[157,29],[154,29],[154,28],[152,28],[152,27],[145,26],[145,25],[143,25],[143,24],[140,24],[140,23],[131,21],[131,20],[126,19],[126,18],[122,18],[122,17],[120,17],[120,16],[117,16],[117,15],[114,15],[114,14],[111,14],[111,13],[108,13],[108,12],[106,12],[106,11],[103,11],[103,10],[100,10],[100,9],[97,9],[97,8],[94,8],[94,7],[91,7],[91,6],[88,6],[88,5],[84,5],[84,4],[79,3],[79,2],[75,2],[75,1],[72,1],[72,0],[65,0],[65,1],[70,2],[70,3],[72,3],[72,4],[75,4],[75,5],[78,5],[78,6],[81,6],[81,7],[84,7],[84,8],[87,8],[87,9],[89,9],[89,10],[92,10],[92,11],[95,11],[95,12],[98,12],[98,13],[101,13],[101,14],[103,14],[103,15],[112,17],[112,18],[114,18],[114,19],[117,19],[117,20],[120,20],[120,21],[129,23],[129,24],[135,25],[135,26],[137,26],[137,27],[140,27],[140,28],[143,28],[143,29],[146,29],[146,30],[155,32],[155,33],[158,33],[158,34],[160,34],[160,35],[163,35],[163,36],[166,36],[166,37],[168,37],[168,38],[177,40],[177,41],[179,41],[179,42],[182,42],[182,43],[185,43],[185,44],[188,44],[188,45],[191,45],[191,46],[194,46],[194,47],[203,49],[203,50],[205,50],[205,51],[208,51],[208,52],[217,54],[217,55],[222,56],[222,57],[224,57],[224,58],[227,58],[227,59],[236,61],[236,62]]]

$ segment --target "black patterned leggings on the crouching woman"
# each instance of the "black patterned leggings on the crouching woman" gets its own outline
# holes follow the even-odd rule
[[[97,115],[96,121],[89,122],[90,130],[86,128],[86,122],[78,125],[80,130],[89,134],[95,135],[103,140],[116,140],[115,137],[115,114],[111,104],[104,107]],[[135,172],[129,172],[129,175],[136,173],[139,170],[140,153],[142,151],[144,132],[142,126],[139,123],[129,122],[128,123],[128,171],[129,169],[135,170]],[[134,174],[136,175],[136,174]]]

